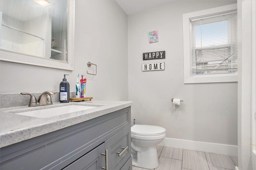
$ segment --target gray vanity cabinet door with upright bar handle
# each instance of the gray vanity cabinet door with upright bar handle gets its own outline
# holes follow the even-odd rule
[[[102,170],[105,167],[105,144],[101,144],[70,164],[64,170]]]

